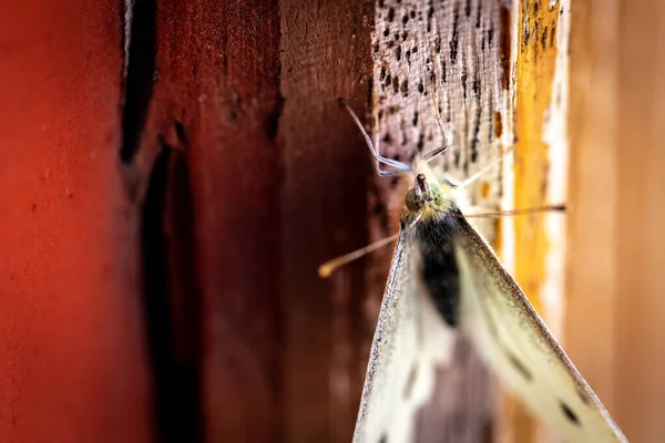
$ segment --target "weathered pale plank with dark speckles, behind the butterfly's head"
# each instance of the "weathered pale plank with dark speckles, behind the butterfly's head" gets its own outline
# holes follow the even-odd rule
[[[512,144],[509,18],[500,2],[377,2],[374,103],[382,155],[408,162],[416,152],[442,145],[432,94],[450,144],[436,164],[442,174],[463,179]],[[500,177],[498,167],[471,186],[469,203],[480,210],[498,208]],[[378,240],[397,228],[406,188],[397,179],[378,177],[375,189],[370,234]],[[478,227],[495,239],[494,220]],[[377,254],[368,272],[374,300],[380,300],[389,254]],[[378,301],[370,305],[368,322],[377,311]],[[466,341],[458,354],[456,367],[439,374],[432,403],[419,420],[419,441],[478,442],[492,434],[494,389]]]

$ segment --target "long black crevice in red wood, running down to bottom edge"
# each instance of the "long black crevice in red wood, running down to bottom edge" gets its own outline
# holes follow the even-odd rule
[[[191,202],[184,154],[162,143],[141,214],[143,316],[160,442],[203,440]]]

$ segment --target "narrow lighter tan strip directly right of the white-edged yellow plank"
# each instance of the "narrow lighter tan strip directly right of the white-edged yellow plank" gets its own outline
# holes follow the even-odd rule
[[[613,416],[620,270],[618,3],[571,4],[566,351]],[[624,430],[625,431],[625,430]],[[628,435],[630,436],[630,435]]]

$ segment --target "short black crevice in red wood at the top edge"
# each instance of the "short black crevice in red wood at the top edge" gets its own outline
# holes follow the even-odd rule
[[[156,58],[155,17],[155,0],[134,1],[122,101],[120,158],[124,164],[131,164],[139,152],[152,97]]]

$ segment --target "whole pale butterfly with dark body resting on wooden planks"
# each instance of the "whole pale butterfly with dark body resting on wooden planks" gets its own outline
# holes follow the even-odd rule
[[[400,233],[371,343],[354,442],[415,440],[418,409],[433,392],[434,369],[451,363],[458,333],[554,434],[566,442],[627,442],[490,245],[457,205],[460,186],[439,181],[429,162],[382,157],[408,174]]]

